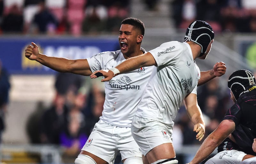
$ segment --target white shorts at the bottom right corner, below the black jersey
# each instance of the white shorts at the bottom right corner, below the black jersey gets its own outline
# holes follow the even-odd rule
[[[242,164],[242,160],[246,154],[237,150],[225,150],[214,155],[207,160],[205,164]]]

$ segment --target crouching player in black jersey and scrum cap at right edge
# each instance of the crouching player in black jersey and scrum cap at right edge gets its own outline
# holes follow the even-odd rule
[[[206,164],[255,163],[256,149],[256,80],[245,69],[237,70],[228,78],[234,105],[223,121],[203,142],[189,164],[198,164],[218,147],[218,153]],[[253,162],[252,162],[253,161]]]

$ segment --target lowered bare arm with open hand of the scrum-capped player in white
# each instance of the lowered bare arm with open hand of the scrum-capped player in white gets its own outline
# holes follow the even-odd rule
[[[190,93],[184,99],[185,107],[190,120],[193,122],[194,131],[197,132],[196,139],[201,141],[204,138],[205,124],[202,111],[197,104],[196,94]]]

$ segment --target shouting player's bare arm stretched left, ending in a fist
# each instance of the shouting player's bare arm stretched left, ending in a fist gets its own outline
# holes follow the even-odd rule
[[[67,58],[50,57],[39,53],[38,46],[34,42],[31,42],[31,45],[26,48],[25,56],[58,72],[70,72],[85,76],[92,74],[86,59],[70,60]]]

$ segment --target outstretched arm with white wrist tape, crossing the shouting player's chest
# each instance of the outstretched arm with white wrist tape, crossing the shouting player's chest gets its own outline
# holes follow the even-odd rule
[[[121,64],[117,65],[115,68],[110,70],[99,70],[95,71],[90,75],[91,78],[97,78],[97,73],[102,73],[102,76],[105,78],[101,80],[101,82],[106,82],[111,80],[114,76],[126,72],[130,72],[134,69],[141,68],[141,67],[147,67],[147,66],[153,66],[156,65],[156,61],[153,57],[153,55],[149,52],[144,53],[142,55],[129,58],[122,62]],[[96,75],[95,75],[96,74]]]

